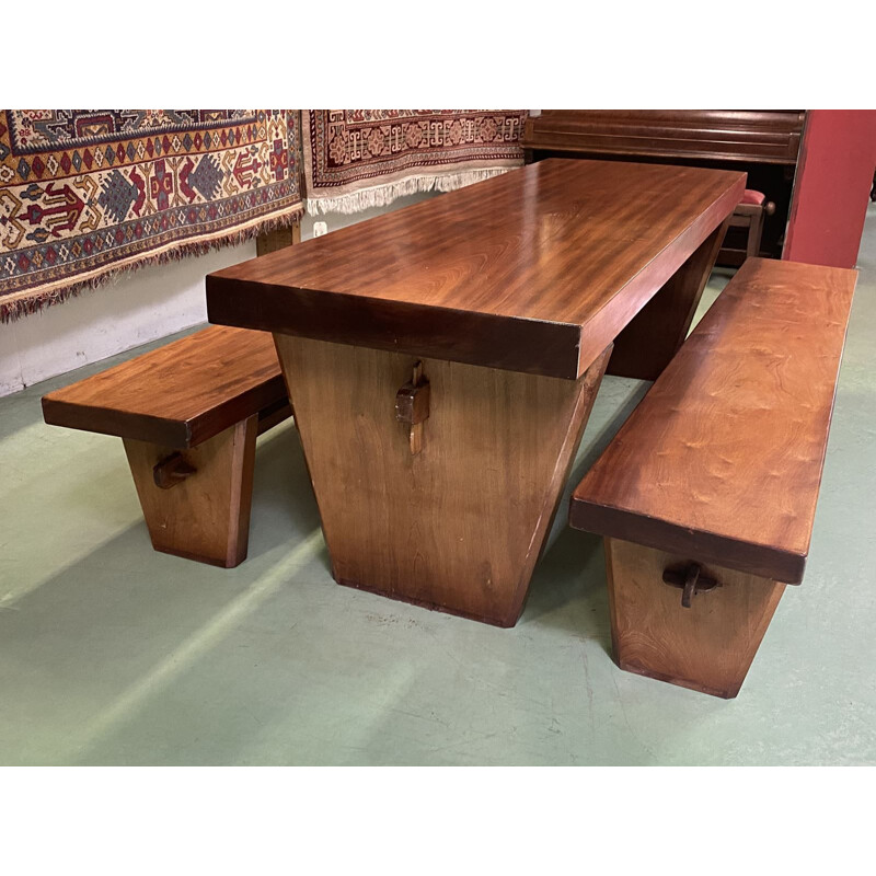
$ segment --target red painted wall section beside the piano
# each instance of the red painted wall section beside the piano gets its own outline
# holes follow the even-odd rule
[[[854,267],[876,168],[876,111],[810,110],[782,258]]]

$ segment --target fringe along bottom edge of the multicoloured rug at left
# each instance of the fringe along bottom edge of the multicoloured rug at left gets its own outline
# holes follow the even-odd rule
[[[218,234],[209,240],[181,241],[180,243],[171,244],[159,253],[136,256],[137,261],[131,261],[130,263],[108,264],[105,267],[94,268],[90,276],[74,283],[58,285],[34,293],[23,292],[22,298],[15,300],[3,301],[0,299],[0,323],[15,322],[22,316],[38,313],[50,304],[59,304],[76,298],[83,291],[105,286],[122,274],[132,273],[152,265],[178,262],[189,255],[206,255],[214,250],[221,250],[226,246],[239,246],[241,243],[246,243],[260,234],[266,234],[269,231],[296,224],[301,220],[303,208],[298,206],[289,212],[270,216],[254,224]]]

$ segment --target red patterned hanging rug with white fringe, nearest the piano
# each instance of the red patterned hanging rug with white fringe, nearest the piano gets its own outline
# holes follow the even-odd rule
[[[308,212],[357,212],[449,192],[523,163],[525,110],[302,113]]]

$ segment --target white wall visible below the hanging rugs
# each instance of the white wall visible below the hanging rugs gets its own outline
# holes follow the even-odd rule
[[[412,195],[390,207],[315,220],[327,222],[331,232],[431,196]],[[312,237],[313,221],[303,218],[302,240]],[[126,272],[62,304],[0,324],[0,396],[205,322],[204,277],[253,257],[255,241]]]

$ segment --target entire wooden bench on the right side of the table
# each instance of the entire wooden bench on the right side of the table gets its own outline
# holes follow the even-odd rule
[[[855,280],[748,260],[578,485],[622,669],[739,692],[803,579]]]

